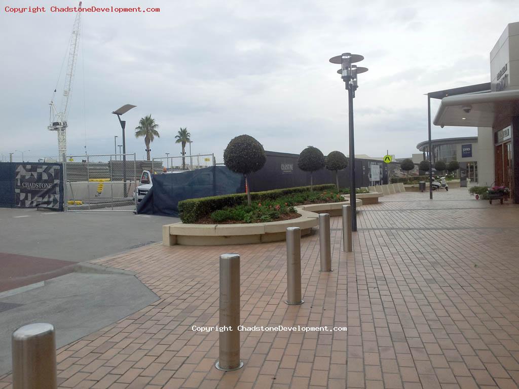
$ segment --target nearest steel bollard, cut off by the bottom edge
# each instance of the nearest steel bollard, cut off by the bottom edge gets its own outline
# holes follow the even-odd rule
[[[12,333],[12,388],[56,389],[54,326],[34,323]]]

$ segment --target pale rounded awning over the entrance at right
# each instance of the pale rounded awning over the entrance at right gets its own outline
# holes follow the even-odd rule
[[[460,94],[442,99],[435,126],[493,127],[504,117],[519,115],[519,90]]]

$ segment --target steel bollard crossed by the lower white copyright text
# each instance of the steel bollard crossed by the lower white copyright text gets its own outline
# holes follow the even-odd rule
[[[226,327],[220,331],[220,351],[216,368],[218,370],[238,370],[243,366],[240,360],[240,256],[222,254],[220,256],[220,323]]]

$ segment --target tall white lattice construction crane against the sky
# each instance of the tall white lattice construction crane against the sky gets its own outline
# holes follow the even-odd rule
[[[79,2],[79,8],[81,8],[81,2]],[[58,133],[58,158],[62,161],[63,155],[66,154],[66,128],[67,115],[69,114],[69,99],[72,92],[72,80],[74,78],[74,66],[77,59],[77,49],[79,46],[79,27],[81,23],[81,12],[78,10],[76,19],[74,20],[74,27],[72,28],[72,37],[70,39],[69,48],[69,61],[67,62],[67,70],[65,77],[65,86],[63,89],[63,97],[61,99],[61,108],[58,111],[56,105],[54,105],[54,95],[56,95],[56,89],[50,101],[50,113],[49,113],[49,126],[47,127],[50,131],[57,131]]]

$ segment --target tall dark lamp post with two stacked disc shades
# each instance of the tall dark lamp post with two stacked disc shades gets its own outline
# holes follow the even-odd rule
[[[346,89],[348,90],[348,114],[349,114],[349,146],[350,146],[350,206],[351,206],[351,230],[357,231],[357,199],[355,185],[355,146],[353,139],[353,98],[358,88],[357,75],[367,72],[367,67],[358,67],[352,65],[364,59],[362,55],[343,53],[330,58],[331,63],[340,64],[341,67],[337,71],[343,79]]]

